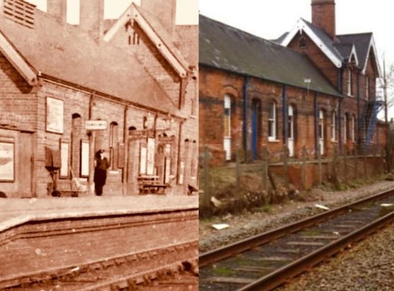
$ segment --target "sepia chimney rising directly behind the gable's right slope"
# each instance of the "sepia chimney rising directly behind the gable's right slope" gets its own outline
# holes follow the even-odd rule
[[[175,31],[176,4],[176,0],[141,0],[141,8],[154,15],[170,34]]]

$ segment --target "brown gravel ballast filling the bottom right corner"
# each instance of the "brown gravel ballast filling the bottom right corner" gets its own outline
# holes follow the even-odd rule
[[[394,290],[394,224],[302,274],[279,291]]]

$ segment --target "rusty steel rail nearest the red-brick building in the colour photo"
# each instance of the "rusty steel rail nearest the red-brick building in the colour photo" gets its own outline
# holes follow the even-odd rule
[[[334,208],[333,210],[326,211],[324,213],[320,213],[312,217],[308,217],[306,219],[302,219],[298,222],[287,224],[286,226],[275,228],[274,230],[269,230],[266,233],[262,233],[259,235],[255,235],[253,237],[249,237],[247,239],[243,239],[241,241],[237,241],[234,244],[229,244],[227,246],[217,248],[216,250],[205,252],[199,255],[199,268],[203,268],[204,266],[208,266],[210,264],[213,264],[217,261],[221,261],[228,257],[233,257],[241,252],[244,252],[251,248],[255,248],[256,246],[260,246],[262,244],[266,244],[269,241],[273,241],[274,239],[278,239],[279,237],[283,237],[288,233],[296,233],[297,231],[307,228],[309,226],[314,226],[316,224],[319,224],[319,222],[324,222],[330,219],[331,217],[336,217],[342,213],[346,213],[346,211],[348,211],[349,209],[355,206],[359,206],[367,202],[378,200],[380,198],[384,198],[388,195],[393,195],[393,194],[394,194],[394,189],[384,191],[363,198],[362,200],[357,200],[356,202],[352,202],[344,206],[339,206],[337,208]]]

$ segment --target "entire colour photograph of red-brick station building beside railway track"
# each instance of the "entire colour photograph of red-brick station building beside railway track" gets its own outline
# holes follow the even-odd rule
[[[199,0],[199,290],[393,290],[393,9]]]

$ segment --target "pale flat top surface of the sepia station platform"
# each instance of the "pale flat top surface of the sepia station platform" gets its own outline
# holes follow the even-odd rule
[[[94,196],[0,199],[0,232],[26,222],[198,208],[197,196]]]

